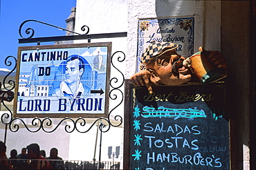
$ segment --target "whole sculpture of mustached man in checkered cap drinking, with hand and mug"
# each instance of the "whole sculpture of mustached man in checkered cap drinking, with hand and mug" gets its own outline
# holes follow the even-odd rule
[[[219,51],[199,52],[185,59],[176,53],[176,44],[156,42],[149,44],[141,56],[140,71],[131,76],[134,86],[147,86],[152,93],[152,86],[164,84],[180,86],[197,79],[197,82],[209,84],[226,77],[226,61]]]

